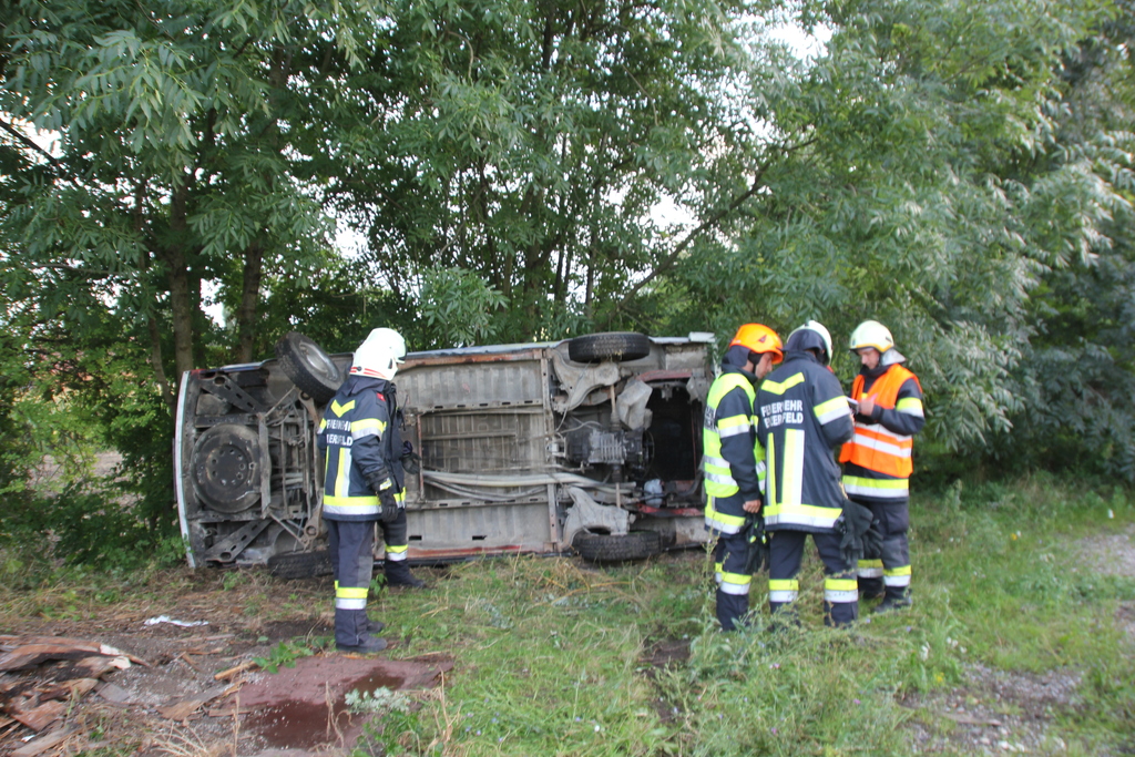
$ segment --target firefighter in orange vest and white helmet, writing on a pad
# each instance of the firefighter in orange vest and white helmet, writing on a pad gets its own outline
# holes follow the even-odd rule
[[[877,555],[859,561],[859,588],[864,597],[883,595],[875,612],[910,604],[910,525],[914,435],[926,422],[922,385],[907,370],[894,348],[894,339],[878,321],[864,321],[851,333],[851,352],[863,367],[851,385],[859,402],[855,437],[843,445],[843,489],[848,497],[869,508],[883,537]]]

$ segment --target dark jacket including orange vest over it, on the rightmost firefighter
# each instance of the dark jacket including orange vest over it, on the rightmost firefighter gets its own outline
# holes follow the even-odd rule
[[[918,377],[894,363],[864,369],[851,385],[855,399],[872,397],[872,414],[856,415],[855,436],[843,445],[843,488],[856,499],[905,502],[914,470],[914,435],[922,430],[922,385]]]

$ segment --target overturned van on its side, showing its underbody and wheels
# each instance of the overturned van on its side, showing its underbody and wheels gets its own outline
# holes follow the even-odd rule
[[[633,560],[700,544],[711,334],[592,334],[406,355],[410,560]],[[187,557],[327,569],[316,430],[350,354],[299,333],[260,363],[182,377],[175,488]]]

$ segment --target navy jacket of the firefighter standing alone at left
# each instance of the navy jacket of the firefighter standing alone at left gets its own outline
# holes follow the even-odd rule
[[[378,520],[381,505],[367,483],[376,477],[394,482],[394,498],[405,498],[401,415],[394,385],[351,375],[323,411],[316,444],[326,451],[323,518],[330,521]]]

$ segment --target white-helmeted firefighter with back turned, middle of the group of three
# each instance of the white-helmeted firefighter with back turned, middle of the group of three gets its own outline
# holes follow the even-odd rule
[[[812,533],[824,563],[824,622],[846,625],[859,616],[859,592],[854,565],[849,569],[841,550],[843,491],[833,451],[851,438],[854,427],[847,397],[827,369],[831,354],[832,338],[816,321],[789,335],[784,363],[757,392],[757,437],[767,455],[768,607],[774,617],[793,613]]]

